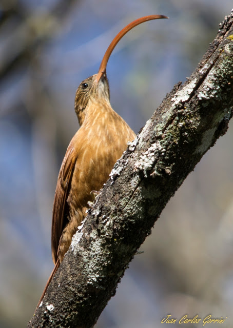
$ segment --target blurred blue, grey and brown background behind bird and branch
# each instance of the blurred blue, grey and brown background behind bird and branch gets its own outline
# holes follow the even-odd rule
[[[137,133],[195,69],[232,7],[232,0],[0,1],[2,328],[26,326],[53,268],[53,196],[79,128],[81,81],[131,20],[168,15],[129,32],[108,63],[111,105]],[[160,327],[168,314],[227,316],[222,326],[232,326],[232,125],[170,200],[96,327]]]

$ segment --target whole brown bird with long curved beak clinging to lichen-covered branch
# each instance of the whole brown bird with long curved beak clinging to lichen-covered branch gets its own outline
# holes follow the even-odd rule
[[[74,110],[80,129],[67,148],[57,178],[53,203],[51,244],[55,266],[36,309],[68,251],[77,227],[87,215],[88,202],[93,194],[101,190],[114,163],[126,150],[127,143],[136,136],[110,105],[106,75],[108,59],[128,31],[143,22],[159,18],[168,17],[144,16],[124,27],[107,48],[98,73],[83,80],[77,88]]]

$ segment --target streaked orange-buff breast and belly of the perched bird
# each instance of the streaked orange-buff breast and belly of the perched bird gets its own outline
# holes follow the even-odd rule
[[[118,114],[108,119],[103,115],[99,119],[95,117],[92,124],[83,125],[77,131],[74,138],[77,158],[67,198],[73,211],[86,206],[92,190],[99,191],[103,187],[114,163],[134,136]]]

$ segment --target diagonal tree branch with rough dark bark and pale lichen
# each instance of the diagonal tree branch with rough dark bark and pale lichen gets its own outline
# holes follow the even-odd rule
[[[232,105],[233,12],[116,162],[28,327],[94,325],[170,197],[226,132]]]

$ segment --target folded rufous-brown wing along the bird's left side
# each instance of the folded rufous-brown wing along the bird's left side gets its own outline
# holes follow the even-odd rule
[[[52,212],[52,258],[54,264],[57,260],[57,249],[62,235],[62,231],[66,225],[65,206],[67,201],[67,192],[70,186],[74,165],[76,162],[76,153],[71,140],[57,179],[56,191],[53,202]]]

